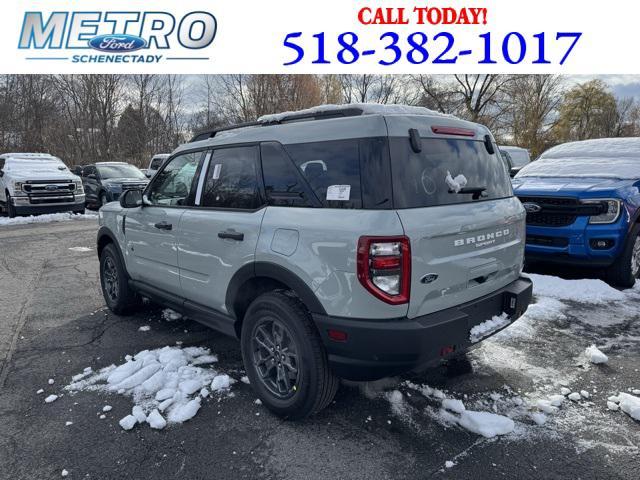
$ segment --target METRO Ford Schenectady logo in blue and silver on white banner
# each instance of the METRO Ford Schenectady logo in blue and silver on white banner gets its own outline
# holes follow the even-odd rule
[[[56,11],[46,16],[31,11],[25,12],[18,49],[30,50],[28,60],[73,63],[208,60],[193,53],[209,47],[216,31],[216,18],[204,11],[182,17],[161,11]],[[170,49],[180,54],[165,57]],[[34,53],[41,55],[36,57]]]

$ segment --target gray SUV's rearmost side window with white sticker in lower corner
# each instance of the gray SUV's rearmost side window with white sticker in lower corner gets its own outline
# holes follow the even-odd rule
[[[328,208],[362,208],[358,140],[286,145],[313,192]]]

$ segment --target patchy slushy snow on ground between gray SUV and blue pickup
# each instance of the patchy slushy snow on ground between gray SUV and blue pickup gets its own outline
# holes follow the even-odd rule
[[[585,377],[592,368],[589,353],[599,357],[589,345],[617,354],[640,345],[640,330],[637,334],[633,327],[640,313],[640,284],[618,291],[598,280],[531,278],[534,303],[526,314],[469,354],[473,375],[504,379],[509,383],[504,391],[477,391],[463,377],[451,385],[465,390],[446,391],[396,379],[395,384],[369,382],[361,387],[363,393],[375,398],[377,388],[391,413],[417,433],[435,423],[481,436],[502,435],[502,441],[570,439],[577,452],[638,454],[640,443],[629,440],[639,438],[638,432],[615,420],[615,412],[625,409],[629,417],[640,417],[640,398],[631,395],[637,385],[628,386],[629,393],[610,396],[612,392],[598,391]],[[616,337],[616,332],[625,333]],[[615,368],[615,360],[609,360],[596,374],[607,375],[607,369]],[[414,392],[427,399],[426,407],[413,400]]]

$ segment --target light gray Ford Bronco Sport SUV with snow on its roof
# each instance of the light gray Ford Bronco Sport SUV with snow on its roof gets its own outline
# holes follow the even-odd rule
[[[482,125],[326,106],[204,132],[100,210],[108,307],[140,297],[240,339],[262,402],[324,408],[518,318],[525,212]]]

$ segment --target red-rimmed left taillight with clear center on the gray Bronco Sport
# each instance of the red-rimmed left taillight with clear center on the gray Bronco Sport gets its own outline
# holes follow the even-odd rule
[[[392,305],[409,301],[411,247],[409,238],[360,237],[358,280],[380,300]]]

